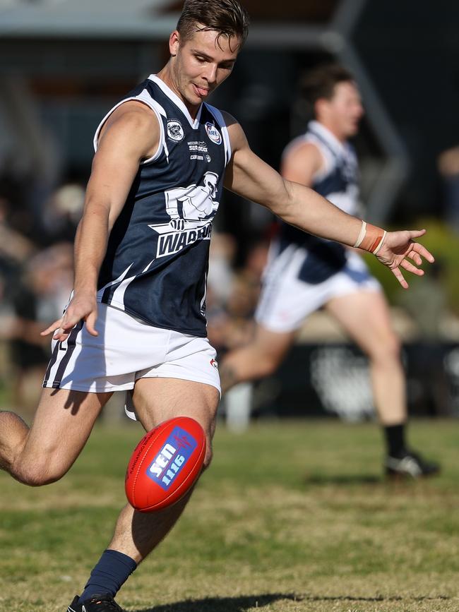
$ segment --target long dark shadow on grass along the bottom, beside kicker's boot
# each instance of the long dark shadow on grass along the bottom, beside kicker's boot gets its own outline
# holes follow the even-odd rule
[[[270,593],[264,595],[246,595],[240,597],[208,597],[206,599],[195,599],[176,601],[174,604],[163,604],[153,608],[142,608],[134,612],[244,612],[250,608],[263,608],[274,601],[290,599],[291,601],[429,601],[451,599],[446,595],[438,596],[383,596],[355,597],[352,595],[320,596],[320,595],[294,595],[292,593]]]

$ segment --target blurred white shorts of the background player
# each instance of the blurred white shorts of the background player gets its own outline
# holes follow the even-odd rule
[[[347,263],[340,272],[317,284],[298,278],[305,258],[306,249],[290,245],[268,263],[255,313],[257,323],[264,328],[292,332],[334,297],[358,291],[381,291],[379,282],[354,251],[347,253]]]

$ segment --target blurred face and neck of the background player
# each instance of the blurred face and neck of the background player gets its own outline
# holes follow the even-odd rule
[[[354,136],[359,129],[364,109],[359,90],[351,82],[335,85],[335,93],[331,100],[326,100],[323,111],[326,113],[328,124],[340,140]]]

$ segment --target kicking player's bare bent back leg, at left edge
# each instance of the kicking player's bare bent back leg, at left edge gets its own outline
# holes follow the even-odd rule
[[[1,469],[30,486],[64,476],[111,395],[43,389],[30,428],[13,412],[0,412]]]

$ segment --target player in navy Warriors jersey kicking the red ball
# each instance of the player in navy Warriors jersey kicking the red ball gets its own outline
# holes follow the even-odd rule
[[[288,223],[377,254],[403,287],[422,274],[424,230],[383,232],[311,189],[284,180],[249,148],[231,116],[205,103],[246,38],[237,0],[186,0],[170,59],[102,121],[75,245],[75,282],[32,427],[0,413],[0,466],[25,484],[61,478],[116,390],[133,389],[138,419],[196,419],[210,462],[220,382],[206,339],[205,277],[222,187]],[[185,193],[186,192],[186,193]],[[121,610],[114,596],[179,518],[121,510],[114,536],[68,612]]]

